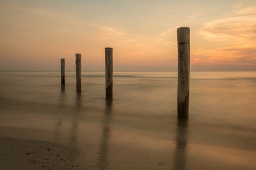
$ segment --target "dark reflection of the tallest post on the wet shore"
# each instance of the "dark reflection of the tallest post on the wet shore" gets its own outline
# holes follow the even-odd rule
[[[176,131],[176,148],[174,152],[174,169],[186,169],[186,150],[188,137],[188,120],[178,120]]]

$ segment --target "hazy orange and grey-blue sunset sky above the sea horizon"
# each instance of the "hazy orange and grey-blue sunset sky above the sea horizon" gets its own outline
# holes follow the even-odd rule
[[[177,71],[179,27],[191,71],[256,71],[255,0],[0,0],[0,71]]]

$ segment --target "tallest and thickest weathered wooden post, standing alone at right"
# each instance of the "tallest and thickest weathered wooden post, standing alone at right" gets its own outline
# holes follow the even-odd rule
[[[190,29],[177,29],[178,38],[178,118],[189,115],[189,69],[190,69]]]

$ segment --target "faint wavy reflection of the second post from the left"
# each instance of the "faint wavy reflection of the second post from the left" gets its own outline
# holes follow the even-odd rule
[[[81,112],[81,92],[76,93],[76,110],[72,113],[73,115],[73,125],[71,128],[71,136],[70,136],[70,143],[74,144],[76,143],[77,139],[77,126],[78,126],[78,119]]]

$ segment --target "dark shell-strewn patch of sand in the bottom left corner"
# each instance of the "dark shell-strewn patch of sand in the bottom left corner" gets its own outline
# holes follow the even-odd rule
[[[45,141],[0,138],[0,169],[80,169],[83,153]]]

